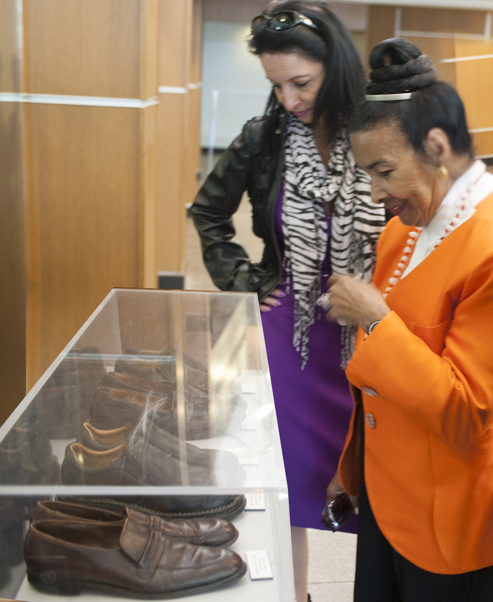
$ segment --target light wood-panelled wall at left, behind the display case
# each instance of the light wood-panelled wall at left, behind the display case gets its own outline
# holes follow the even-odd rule
[[[4,0],[0,92],[139,102],[159,85],[189,90],[200,10],[201,0]],[[0,102],[0,423],[111,288],[153,288],[158,270],[183,266],[200,88],[159,100]]]

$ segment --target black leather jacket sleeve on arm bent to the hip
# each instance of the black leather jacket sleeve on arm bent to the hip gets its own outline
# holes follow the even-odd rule
[[[258,120],[248,122],[242,133],[222,154],[215,168],[198,191],[190,212],[200,236],[204,264],[214,284],[224,291],[250,290],[250,258],[232,239],[231,217],[253,178],[257,152],[254,129]]]

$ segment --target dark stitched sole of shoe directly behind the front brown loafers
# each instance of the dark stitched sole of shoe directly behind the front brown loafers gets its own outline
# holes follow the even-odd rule
[[[155,514],[158,517],[164,518],[167,521],[174,521],[180,518],[187,518],[193,520],[194,518],[223,518],[224,520],[231,521],[236,518],[237,515],[241,514],[247,506],[247,498],[241,495],[236,498],[234,503],[228,504],[228,506],[222,506],[218,508],[212,508],[210,510],[203,510],[202,512],[158,512],[156,510],[140,506],[138,503],[131,504],[129,501],[121,501],[118,499],[110,499],[103,497],[78,497],[68,495],[57,495],[55,498],[60,501],[67,501],[69,503],[84,504],[84,506],[93,506],[97,508],[104,508],[106,510],[112,510],[123,516],[126,516],[123,509],[126,507],[133,508],[139,512],[145,512],[145,514]],[[136,498],[139,499],[139,498]]]

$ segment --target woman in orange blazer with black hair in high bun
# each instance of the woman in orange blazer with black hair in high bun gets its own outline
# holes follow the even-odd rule
[[[352,148],[398,217],[373,284],[332,276],[327,314],[359,326],[338,470],[360,496],[354,599],[491,602],[493,176],[428,57],[393,39],[370,63]]]

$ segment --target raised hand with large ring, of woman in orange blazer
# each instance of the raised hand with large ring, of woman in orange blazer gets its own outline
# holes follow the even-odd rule
[[[330,293],[326,320],[344,320],[367,332],[370,324],[382,320],[389,312],[382,293],[373,284],[361,282],[355,276],[332,274],[327,282]]]

